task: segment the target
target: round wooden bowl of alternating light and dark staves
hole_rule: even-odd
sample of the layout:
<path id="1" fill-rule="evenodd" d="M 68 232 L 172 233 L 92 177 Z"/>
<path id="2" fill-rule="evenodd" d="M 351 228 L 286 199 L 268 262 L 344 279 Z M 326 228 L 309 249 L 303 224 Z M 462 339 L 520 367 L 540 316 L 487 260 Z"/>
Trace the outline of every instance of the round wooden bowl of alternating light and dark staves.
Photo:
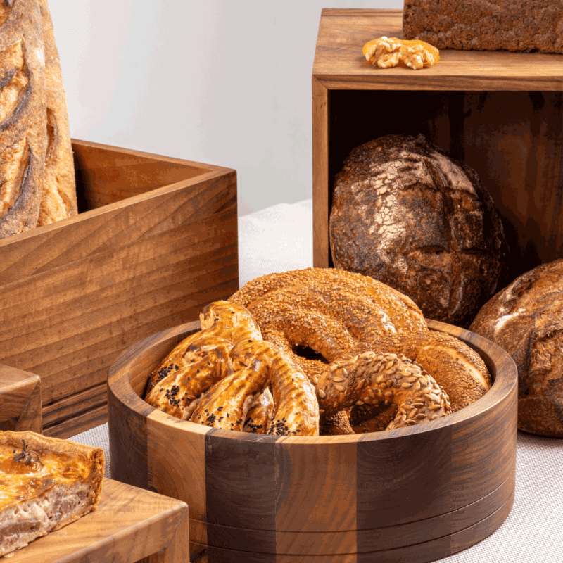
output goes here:
<path id="1" fill-rule="evenodd" d="M 110 368 L 111 476 L 189 505 L 191 556 L 210 563 L 432 561 L 482 540 L 512 507 L 517 371 L 491 341 L 448 324 L 477 350 L 491 391 L 405 429 L 353 436 L 261 436 L 210 429 L 141 399 L 183 324 Z"/>

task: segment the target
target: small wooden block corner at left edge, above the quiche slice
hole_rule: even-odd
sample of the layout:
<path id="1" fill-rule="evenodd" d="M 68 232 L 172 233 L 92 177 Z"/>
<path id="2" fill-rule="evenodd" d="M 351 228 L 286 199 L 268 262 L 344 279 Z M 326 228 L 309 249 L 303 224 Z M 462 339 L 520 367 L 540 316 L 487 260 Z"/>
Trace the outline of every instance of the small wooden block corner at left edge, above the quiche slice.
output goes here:
<path id="1" fill-rule="evenodd" d="M 41 379 L 0 364 L 0 430 L 42 433 Z"/>

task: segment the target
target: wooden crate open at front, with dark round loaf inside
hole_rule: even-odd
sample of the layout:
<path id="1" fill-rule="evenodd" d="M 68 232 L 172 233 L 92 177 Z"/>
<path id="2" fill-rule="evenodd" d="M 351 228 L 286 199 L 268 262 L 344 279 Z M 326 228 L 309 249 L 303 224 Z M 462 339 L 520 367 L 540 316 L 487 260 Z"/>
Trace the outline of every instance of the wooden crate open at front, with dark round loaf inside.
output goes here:
<path id="1" fill-rule="evenodd" d="M 510 280 L 563 256 L 563 57 L 441 51 L 422 70 L 381 69 L 362 56 L 403 37 L 400 10 L 322 11 L 312 71 L 313 260 L 332 265 L 334 177 L 352 148 L 423 133 L 472 166 L 500 210 Z"/>

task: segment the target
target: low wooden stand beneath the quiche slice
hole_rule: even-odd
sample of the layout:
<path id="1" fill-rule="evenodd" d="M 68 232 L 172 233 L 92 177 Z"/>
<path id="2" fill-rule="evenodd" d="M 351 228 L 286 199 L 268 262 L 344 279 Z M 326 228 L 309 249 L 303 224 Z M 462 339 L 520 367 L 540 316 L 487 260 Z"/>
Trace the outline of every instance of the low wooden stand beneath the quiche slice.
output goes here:
<path id="1" fill-rule="evenodd" d="M 34 540 L 10 563 L 189 563 L 188 505 L 104 479 L 96 510 Z"/>

